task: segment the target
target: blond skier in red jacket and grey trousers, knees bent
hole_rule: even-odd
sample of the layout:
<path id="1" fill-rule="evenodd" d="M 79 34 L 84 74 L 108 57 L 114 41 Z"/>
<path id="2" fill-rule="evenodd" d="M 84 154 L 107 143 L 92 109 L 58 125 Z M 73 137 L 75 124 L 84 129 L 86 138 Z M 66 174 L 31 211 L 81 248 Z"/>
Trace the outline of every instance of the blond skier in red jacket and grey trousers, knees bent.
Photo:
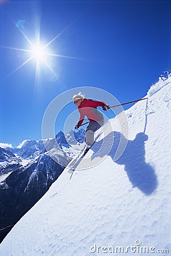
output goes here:
<path id="1" fill-rule="evenodd" d="M 106 105 L 103 101 L 94 101 L 87 98 L 84 98 L 82 93 L 78 93 L 73 96 L 73 102 L 76 104 L 78 111 L 80 112 L 80 119 L 78 124 L 74 127 L 76 130 L 82 125 L 85 116 L 89 119 L 89 125 L 85 131 L 86 137 L 86 152 L 90 149 L 90 147 L 94 143 L 94 133 L 97 131 L 104 123 L 105 120 L 101 112 L 97 110 L 98 106 L 101 106 L 103 110 L 109 110 L 110 106 Z"/>

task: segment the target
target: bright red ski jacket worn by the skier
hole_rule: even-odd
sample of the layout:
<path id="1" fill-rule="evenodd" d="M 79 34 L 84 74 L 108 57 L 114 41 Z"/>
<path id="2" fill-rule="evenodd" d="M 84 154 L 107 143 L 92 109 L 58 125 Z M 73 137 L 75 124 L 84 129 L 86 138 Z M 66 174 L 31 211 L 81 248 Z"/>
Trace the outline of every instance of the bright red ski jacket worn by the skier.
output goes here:
<path id="1" fill-rule="evenodd" d="M 81 126 L 84 121 L 85 116 L 89 119 L 90 122 L 97 121 L 100 125 L 103 125 L 104 118 L 101 112 L 97 110 L 98 106 L 102 108 L 106 105 L 103 101 L 93 101 L 84 98 L 80 106 L 78 106 L 78 111 L 80 112 L 80 119 L 78 125 Z"/>

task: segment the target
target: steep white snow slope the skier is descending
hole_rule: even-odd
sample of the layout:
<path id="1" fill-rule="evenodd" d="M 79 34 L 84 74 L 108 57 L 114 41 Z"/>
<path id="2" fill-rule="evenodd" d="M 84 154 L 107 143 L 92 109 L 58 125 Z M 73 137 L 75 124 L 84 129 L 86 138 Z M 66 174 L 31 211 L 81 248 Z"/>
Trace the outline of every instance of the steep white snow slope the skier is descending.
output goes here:
<path id="1" fill-rule="evenodd" d="M 114 140 L 109 154 L 107 144 L 98 151 L 101 134 L 72 178 L 65 168 L 14 226 L 0 255 L 169 255 L 170 88 L 171 77 L 160 79 L 148 100 L 126 110 L 128 143 L 116 161 L 121 133 L 118 119 L 111 119 L 104 127 Z"/>

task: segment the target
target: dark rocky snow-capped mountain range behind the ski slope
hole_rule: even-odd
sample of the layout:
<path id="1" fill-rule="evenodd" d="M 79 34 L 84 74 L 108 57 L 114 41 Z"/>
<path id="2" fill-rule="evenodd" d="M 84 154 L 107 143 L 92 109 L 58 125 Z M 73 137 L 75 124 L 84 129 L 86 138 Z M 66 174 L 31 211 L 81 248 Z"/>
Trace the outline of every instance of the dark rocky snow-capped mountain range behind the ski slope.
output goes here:
<path id="1" fill-rule="evenodd" d="M 0 148 L 0 242 L 20 217 L 47 192 L 78 152 L 69 144 L 66 147 L 64 133 L 60 132 L 56 138 L 57 143 L 55 138 L 25 140 L 10 151 Z"/>

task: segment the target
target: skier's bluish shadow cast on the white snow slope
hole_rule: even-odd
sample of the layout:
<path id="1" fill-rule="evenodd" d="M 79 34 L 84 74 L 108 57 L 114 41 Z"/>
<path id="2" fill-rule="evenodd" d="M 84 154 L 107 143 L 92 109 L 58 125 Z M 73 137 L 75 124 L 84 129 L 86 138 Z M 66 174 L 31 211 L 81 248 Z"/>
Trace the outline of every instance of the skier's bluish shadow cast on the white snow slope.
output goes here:
<path id="1" fill-rule="evenodd" d="M 111 156 L 112 160 L 114 160 L 116 150 L 119 146 L 120 137 L 121 134 L 116 131 L 110 133 L 106 137 L 107 140 L 112 139 L 114 141 L 108 154 Z M 145 162 L 144 143 L 147 140 L 148 135 L 144 133 L 138 133 L 134 141 L 128 141 L 127 147 L 124 150 L 122 156 L 120 156 L 120 158 L 116 160 L 115 163 L 124 165 L 124 170 L 127 172 L 128 178 L 131 181 L 133 187 L 137 187 L 146 195 L 150 195 L 157 188 L 157 176 L 153 167 Z M 98 148 L 101 147 L 102 143 L 103 140 L 96 143 Z M 104 156 L 103 150 L 94 152 L 91 157 L 94 158 L 96 156 L 102 158 Z"/>

